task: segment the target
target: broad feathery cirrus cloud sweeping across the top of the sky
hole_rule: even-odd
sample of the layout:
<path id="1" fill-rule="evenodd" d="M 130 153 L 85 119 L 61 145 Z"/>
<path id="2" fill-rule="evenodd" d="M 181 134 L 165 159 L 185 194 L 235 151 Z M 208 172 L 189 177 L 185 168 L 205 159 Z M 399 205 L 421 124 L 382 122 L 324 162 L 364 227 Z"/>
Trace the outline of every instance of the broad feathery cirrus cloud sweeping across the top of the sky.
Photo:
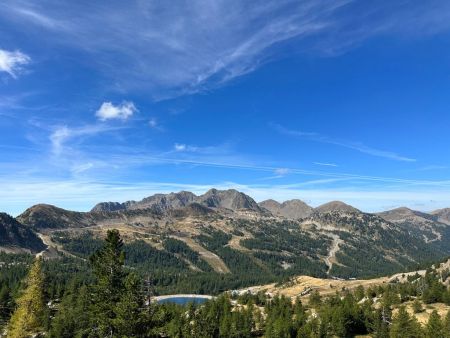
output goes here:
<path id="1" fill-rule="evenodd" d="M 380 34 L 450 27 L 450 5 L 438 0 L 359 6 L 355 0 L 4 0 L 0 17 L 26 36 L 44 31 L 51 46 L 88 56 L 114 88 L 156 99 L 227 83 L 284 55 L 282 46 L 294 40 L 305 43 L 290 52 L 334 54 Z"/>

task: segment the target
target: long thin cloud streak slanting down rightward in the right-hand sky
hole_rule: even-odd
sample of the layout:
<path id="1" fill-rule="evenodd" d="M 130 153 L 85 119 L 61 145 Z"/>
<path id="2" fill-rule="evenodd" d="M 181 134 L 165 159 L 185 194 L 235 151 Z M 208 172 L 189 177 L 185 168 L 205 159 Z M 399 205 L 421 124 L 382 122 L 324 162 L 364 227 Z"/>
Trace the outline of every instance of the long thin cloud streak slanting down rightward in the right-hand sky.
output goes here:
<path id="1" fill-rule="evenodd" d="M 358 151 L 363 154 L 367 154 L 367 155 L 371 155 L 371 156 L 375 156 L 375 157 L 387 158 L 387 159 L 395 160 L 395 161 L 402 161 L 402 162 L 415 162 L 416 161 L 416 159 L 414 159 L 414 158 L 399 155 L 392 151 L 381 150 L 381 149 L 369 147 L 361 142 L 339 140 L 339 139 L 334 139 L 334 138 L 331 138 L 331 137 L 328 137 L 325 135 L 321 135 L 319 133 L 311 133 L 311 132 L 304 132 L 301 130 L 288 129 L 288 128 L 286 128 L 280 124 L 276 124 L 276 123 L 271 123 L 270 126 L 274 130 L 279 132 L 280 134 L 287 135 L 287 136 L 302 138 L 302 139 L 306 139 L 306 140 L 314 141 L 314 142 L 333 144 L 333 145 L 344 147 L 347 149 L 352 149 L 352 150 Z"/>

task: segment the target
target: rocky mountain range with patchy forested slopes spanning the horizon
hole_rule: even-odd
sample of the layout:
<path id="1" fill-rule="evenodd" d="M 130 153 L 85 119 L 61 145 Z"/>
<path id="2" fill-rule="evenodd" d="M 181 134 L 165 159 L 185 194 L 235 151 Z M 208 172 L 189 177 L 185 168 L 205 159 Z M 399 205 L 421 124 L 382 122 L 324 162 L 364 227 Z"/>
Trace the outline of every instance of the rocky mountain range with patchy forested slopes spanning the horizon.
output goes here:
<path id="1" fill-rule="evenodd" d="M 450 255 L 450 209 L 397 208 L 375 214 L 339 201 L 316 208 L 298 199 L 257 203 L 233 189 L 102 202 L 89 212 L 38 204 L 15 219 L 0 217 L 0 249 L 39 252 L 50 247 L 81 257 L 87 253 L 78 250 L 80 241 L 92 243 L 111 228 L 119 229 L 127 242 L 143 241 L 174 255 L 187 269 L 216 273 L 235 272 L 239 260 L 249 270 L 272 275 L 364 277 Z M 187 246 L 198 260 L 171 252 L 168 238 Z"/>

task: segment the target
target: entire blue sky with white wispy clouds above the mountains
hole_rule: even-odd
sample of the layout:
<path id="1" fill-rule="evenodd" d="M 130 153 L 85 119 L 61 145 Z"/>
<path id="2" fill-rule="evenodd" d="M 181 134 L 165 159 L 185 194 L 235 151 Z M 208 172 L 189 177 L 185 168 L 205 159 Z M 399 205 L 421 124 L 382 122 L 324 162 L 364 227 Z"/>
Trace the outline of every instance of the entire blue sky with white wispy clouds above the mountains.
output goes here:
<path id="1" fill-rule="evenodd" d="M 0 3 L 0 206 L 450 207 L 448 1 Z"/>

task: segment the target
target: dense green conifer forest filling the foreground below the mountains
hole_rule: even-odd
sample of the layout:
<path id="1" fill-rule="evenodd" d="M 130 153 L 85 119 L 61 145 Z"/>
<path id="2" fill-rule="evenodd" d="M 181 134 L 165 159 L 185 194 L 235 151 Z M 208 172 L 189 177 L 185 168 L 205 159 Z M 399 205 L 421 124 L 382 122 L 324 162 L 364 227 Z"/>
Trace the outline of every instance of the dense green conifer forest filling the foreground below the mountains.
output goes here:
<path id="1" fill-rule="evenodd" d="M 168 242 L 176 250 L 176 242 Z M 189 252 L 188 252 L 189 253 Z M 7 337 L 450 337 L 450 312 L 415 313 L 450 305 L 448 270 L 429 269 L 403 283 L 290 299 L 225 292 L 202 304 L 153 301 L 151 274 L 125 265 L 124 243 L 110 230 L 78 266 L 29 255 L 2 254 L 0 316 Z M 405 304 L 412 302 L 411 311 Z"/>

